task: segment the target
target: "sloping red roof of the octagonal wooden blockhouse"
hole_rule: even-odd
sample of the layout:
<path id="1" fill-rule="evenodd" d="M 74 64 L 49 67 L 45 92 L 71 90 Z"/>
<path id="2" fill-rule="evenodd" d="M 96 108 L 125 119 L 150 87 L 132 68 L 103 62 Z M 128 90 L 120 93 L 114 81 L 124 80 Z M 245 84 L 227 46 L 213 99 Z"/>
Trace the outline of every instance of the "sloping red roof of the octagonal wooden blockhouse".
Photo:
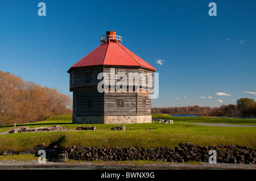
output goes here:
<path id="1" fill-rule="evenodd" d="M 138 66 L 153 71 L 156 70 L 122 44 L 113 41 L 101 44 L 71 68 L 95 65 Z"/>

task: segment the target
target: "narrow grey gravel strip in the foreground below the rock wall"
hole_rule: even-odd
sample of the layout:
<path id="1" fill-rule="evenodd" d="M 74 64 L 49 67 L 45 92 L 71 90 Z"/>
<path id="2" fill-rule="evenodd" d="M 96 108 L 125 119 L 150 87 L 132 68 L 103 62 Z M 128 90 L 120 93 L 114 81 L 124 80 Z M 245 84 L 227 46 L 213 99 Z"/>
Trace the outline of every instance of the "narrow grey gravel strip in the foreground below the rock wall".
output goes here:
<path id="1" fill-rule="evenodd" d="M 216 163 L 210 164 L 208 162 L 203 163 L 146 163 L 144 165 L 127 164 L 122 162 L 79 162 L 79 163 L 55 163 L 46 162 L 46 164 L 39 164 L 38 161 L 0 161 L 0 170 L 2 169 L 15 169 L 15 170 L 26 170 L 26 169 L 97 169 L 97 170 L 119 170 L 119 169 L 141 169 L 141 170 L 187 170 L 187 169 L 246 169 L 246 170 L 256 170 L 256 165 L 247 164 L 234 164 L 234 163 Z"/>

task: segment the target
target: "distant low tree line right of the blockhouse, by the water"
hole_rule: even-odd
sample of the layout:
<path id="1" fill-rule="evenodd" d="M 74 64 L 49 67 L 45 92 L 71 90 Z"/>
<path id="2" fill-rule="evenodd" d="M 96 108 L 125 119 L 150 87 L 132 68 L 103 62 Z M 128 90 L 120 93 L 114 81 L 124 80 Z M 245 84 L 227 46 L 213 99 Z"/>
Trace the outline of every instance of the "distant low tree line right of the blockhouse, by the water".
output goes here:
<path id="1" fill-rule="evenodd" d="M 152 113 L 167 114 L 198 114 L 201 116 L 223 116 L 223 117 L 256 117 L 256 102 L 250 98 L 240 98 L 237 104 L 222 105 L 220 107 L 162 107 L 151 108 Z"/>

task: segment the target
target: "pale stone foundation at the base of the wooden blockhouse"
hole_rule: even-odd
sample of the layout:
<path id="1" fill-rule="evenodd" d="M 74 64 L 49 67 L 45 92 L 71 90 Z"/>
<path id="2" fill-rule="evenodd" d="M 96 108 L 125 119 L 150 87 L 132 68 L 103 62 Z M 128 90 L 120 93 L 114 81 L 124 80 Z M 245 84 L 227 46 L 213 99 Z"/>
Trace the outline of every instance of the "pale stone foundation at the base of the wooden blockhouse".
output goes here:
<path id="1" fill-rule="evenodd" d="M 152 116 L 73 116 L 73 124 L 151 123 Z"/>

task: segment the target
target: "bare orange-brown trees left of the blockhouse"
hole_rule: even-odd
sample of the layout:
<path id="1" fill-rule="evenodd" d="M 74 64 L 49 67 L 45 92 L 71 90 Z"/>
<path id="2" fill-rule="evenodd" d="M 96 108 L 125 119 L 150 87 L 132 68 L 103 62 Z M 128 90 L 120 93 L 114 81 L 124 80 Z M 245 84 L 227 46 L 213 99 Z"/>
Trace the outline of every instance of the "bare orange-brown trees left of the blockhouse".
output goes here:
<path id="1" fill-rule="evenodd" d="M 31 123 L 72 113 L 72 98 L 0 71 L 0 125 Z"/>

